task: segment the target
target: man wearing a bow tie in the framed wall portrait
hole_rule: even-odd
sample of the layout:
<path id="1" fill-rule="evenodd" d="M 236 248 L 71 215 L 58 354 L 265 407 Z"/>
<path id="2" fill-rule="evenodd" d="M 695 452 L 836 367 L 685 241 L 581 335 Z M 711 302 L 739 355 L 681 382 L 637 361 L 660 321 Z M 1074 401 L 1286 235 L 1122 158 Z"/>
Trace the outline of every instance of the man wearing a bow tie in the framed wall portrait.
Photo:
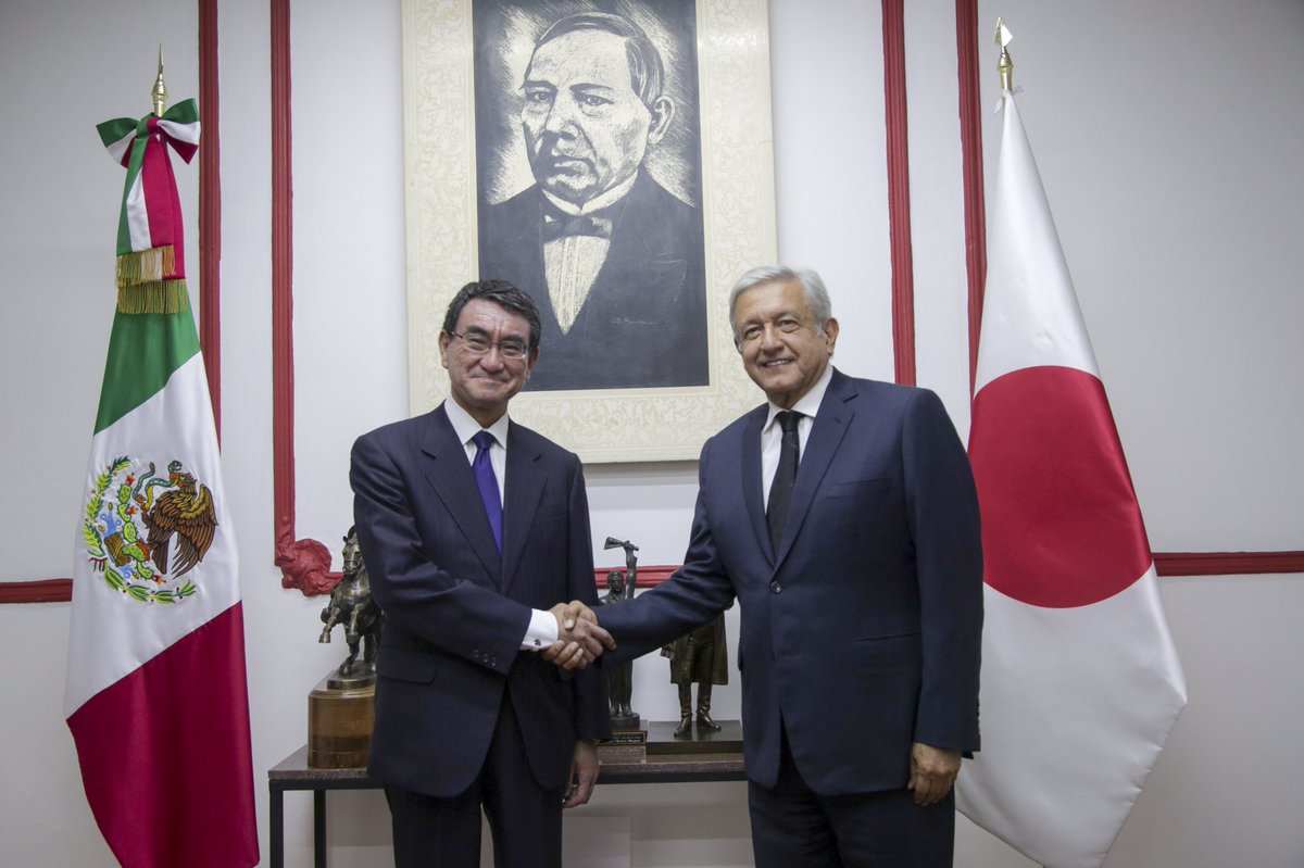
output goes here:
<path id="1" fill-rule="evenodd" d="M 480 271 L 539 304 L 532 390 L 705 386 L 702 212 L 645 168 L 675 117 L 661 53 L 621 16 L 553 23 L 522 83 L 535 185 L 481 209 Z"/>

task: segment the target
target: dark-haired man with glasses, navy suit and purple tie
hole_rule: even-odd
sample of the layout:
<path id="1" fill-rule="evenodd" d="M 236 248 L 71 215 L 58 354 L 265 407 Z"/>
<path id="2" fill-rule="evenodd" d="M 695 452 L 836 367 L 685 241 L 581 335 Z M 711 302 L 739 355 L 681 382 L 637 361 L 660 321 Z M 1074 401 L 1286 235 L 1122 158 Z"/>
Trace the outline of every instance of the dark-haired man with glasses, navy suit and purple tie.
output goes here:
<path id="1" fill-rule="evenodd" d="M 353 516 L 387 618 L 368 770 L 396 865 L 477 867 L 482 805 L 496 864 L 559 867 L 563 803 L 588 800 L 593 739 L 609 736 L 599 673 L 532 653 L 571 633 L 554 601 L 597 602 L 579 459 L 507 418 L 539 332 L 529 296 L 467 284 L 439 335 L 451 400 L 353 444 Z"/>

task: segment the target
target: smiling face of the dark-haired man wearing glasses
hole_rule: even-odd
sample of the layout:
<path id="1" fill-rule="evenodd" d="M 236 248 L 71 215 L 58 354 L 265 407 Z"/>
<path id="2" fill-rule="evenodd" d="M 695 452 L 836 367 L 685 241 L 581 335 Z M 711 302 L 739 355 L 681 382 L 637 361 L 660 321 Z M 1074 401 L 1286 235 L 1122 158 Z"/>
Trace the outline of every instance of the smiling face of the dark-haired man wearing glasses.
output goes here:
<path id="1" fill-rule="evenodd" d="M 529 379 L 529 370 L 539 361 L 539 349 L 526 358 L 505 358 L 499 341 L 516 340 L 529 345 L 529 321 L 493 301 L 472 298 L 462 309 L 455 327 L 458 335 L 477 335 L 490 341 L 489 352 L 477 356 L 467 349 L 462 338 L 439 332 L 439 361 L 449 370 L 452 400 L 482 427 L 493 425 L 507 412 Z"/>

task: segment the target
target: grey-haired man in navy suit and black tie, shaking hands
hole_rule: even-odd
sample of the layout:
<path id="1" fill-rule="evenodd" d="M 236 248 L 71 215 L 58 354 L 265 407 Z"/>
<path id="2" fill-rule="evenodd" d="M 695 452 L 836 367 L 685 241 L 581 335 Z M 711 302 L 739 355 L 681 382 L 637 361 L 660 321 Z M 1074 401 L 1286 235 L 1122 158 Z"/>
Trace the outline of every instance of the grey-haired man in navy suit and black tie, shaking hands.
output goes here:
<path id="1" fill-rule="evenodd" d="M 833 370 L 815 272 L 748 272 L 730 321 L 769 400 L 702 450 L 683 567 L 600 623 L 638 656 L 739 601 L 758 865 L 949 865 L 952 785 L 978 748 L 964 447 L 932 392 Z"/>

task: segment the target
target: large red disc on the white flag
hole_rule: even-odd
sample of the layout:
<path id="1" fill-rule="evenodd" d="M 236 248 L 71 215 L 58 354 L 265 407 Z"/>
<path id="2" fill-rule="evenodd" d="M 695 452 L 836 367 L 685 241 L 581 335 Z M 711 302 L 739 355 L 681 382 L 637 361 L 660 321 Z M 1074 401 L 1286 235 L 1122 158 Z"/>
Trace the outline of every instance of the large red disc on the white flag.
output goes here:
<path id="1" fill-rule="evenodd" d="M 1072 368 L 1005 374 L 974 398 L 969 460 L 985 579 L 1033 606 L 1107 600 L 1150 546 L 1101 381 Z"/>

